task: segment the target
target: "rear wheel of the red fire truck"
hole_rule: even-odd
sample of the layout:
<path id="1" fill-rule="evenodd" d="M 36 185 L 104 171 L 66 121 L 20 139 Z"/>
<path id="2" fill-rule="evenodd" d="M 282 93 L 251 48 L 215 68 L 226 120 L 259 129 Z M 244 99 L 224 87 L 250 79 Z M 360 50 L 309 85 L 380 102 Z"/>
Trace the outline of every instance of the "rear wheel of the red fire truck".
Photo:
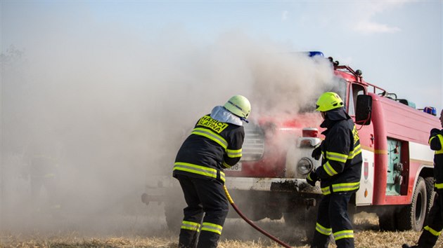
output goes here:
<path id="1" fill-rule="evenodd" d="M 413 191 L 412 202 L 400 209 L 397 215 L 399 230 L 416 230 L 423 228 L 426 215 L 426 183 L 423 177 L 418 177 L 416 189 Z"/>

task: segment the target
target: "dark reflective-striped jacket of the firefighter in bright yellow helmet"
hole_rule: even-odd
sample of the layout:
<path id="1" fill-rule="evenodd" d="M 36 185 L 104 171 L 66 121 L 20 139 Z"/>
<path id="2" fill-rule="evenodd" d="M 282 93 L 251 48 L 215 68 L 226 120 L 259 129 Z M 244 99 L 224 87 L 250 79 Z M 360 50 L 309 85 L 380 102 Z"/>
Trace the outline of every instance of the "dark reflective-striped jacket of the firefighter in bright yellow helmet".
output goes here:
<path id="1" fill-rule="evenodd" d="M 321 123 L 327 128 L 322 134 L 323 159 L 316 175 L 321 179 L 323 195 L 340 192 L 354 192 L 359 189 L 361 177 L 360 139 L 352 118 L 343 108 L 326 113 Z"/>

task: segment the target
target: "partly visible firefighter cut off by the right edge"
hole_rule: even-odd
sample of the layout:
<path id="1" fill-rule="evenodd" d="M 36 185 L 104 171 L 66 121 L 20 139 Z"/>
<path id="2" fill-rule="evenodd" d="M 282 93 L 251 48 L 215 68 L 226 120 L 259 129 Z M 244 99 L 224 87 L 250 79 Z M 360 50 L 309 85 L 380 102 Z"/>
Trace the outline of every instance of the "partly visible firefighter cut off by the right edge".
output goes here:
<path id="1" fill-rule="evenodd" d="M 443 128 L 443 110 L 440 113 L 440 123 Z M 439 235 L 443 230 L 443 130 L 432 128 L 429 137 L 430 149 L 435 151 L 434 155 L 434 179 L 436 191 L 434 204 L 429 211 L 428 226 L 423 228 L 418 239 L 418 244 L 411 247 L 430 248 L 434 247 Z M 409 248 L 403 244 L 403 248 Z"/>

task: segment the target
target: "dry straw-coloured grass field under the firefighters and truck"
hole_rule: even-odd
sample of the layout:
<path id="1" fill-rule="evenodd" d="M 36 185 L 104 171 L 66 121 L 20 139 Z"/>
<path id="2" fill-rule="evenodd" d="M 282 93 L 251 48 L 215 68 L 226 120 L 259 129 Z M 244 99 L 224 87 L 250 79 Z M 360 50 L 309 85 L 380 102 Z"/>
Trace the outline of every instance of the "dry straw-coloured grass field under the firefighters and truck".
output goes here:
<path id="1" fill-rule="evenodd" d="M 126 223 L 109 220 L 108 223 L 82 226 L 64 226 L 58 230 L 51 228 L 52 223 L 43 226 L 28 225 L 24 230 L 6 230 L 0 233 L 0 247 L 177 247 L 177 235 L 167 230 L 162 216 L 148 219 L 125 217 Z M 116 224 L 118 223 L 118 224 Z M 149 223 L 149 224 L 148 224 Z M 285 228 L 282 221 L 258 221 L 257 224 L 276 235 L 292 247 L 309 247 L 304 231 Z M 98 231 L 99 226 L 102 228 Z M 420 233 L 382 232 L 378 230 L 378 218 L 372 214 L 358 214 L 354 219 L 356 247 L 401 247 L 407 242 L 413 244 Z M 276 242 L 258 233 L 240 219 L 228 219 L 219 243 L 220 248 L 261 248 L 280 247 Z M 335 247 L 335 244 L 330 244 Z M 440 239 L 436 247 L 443 247 Z"/>

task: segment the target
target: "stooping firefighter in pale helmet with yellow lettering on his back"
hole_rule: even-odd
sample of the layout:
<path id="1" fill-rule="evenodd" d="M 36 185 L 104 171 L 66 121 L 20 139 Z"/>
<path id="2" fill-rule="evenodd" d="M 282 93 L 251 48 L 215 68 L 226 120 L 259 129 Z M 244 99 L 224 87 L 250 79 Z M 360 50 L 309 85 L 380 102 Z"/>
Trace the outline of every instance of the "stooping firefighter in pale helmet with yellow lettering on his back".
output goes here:
<path id="1" fill-rule="evenodd" d="M 242 156 L 251 105 L 235 95 L 200 118 L 176 155 L 173 176 L 179 180 L 187 207 L 179 247 L 217 247 L 229 203 L 224 193 L 224 168 Z M 204 216 L 203 216 L 204 215 Z M 202 222 L 203 220 L 203 222 Z"/>

